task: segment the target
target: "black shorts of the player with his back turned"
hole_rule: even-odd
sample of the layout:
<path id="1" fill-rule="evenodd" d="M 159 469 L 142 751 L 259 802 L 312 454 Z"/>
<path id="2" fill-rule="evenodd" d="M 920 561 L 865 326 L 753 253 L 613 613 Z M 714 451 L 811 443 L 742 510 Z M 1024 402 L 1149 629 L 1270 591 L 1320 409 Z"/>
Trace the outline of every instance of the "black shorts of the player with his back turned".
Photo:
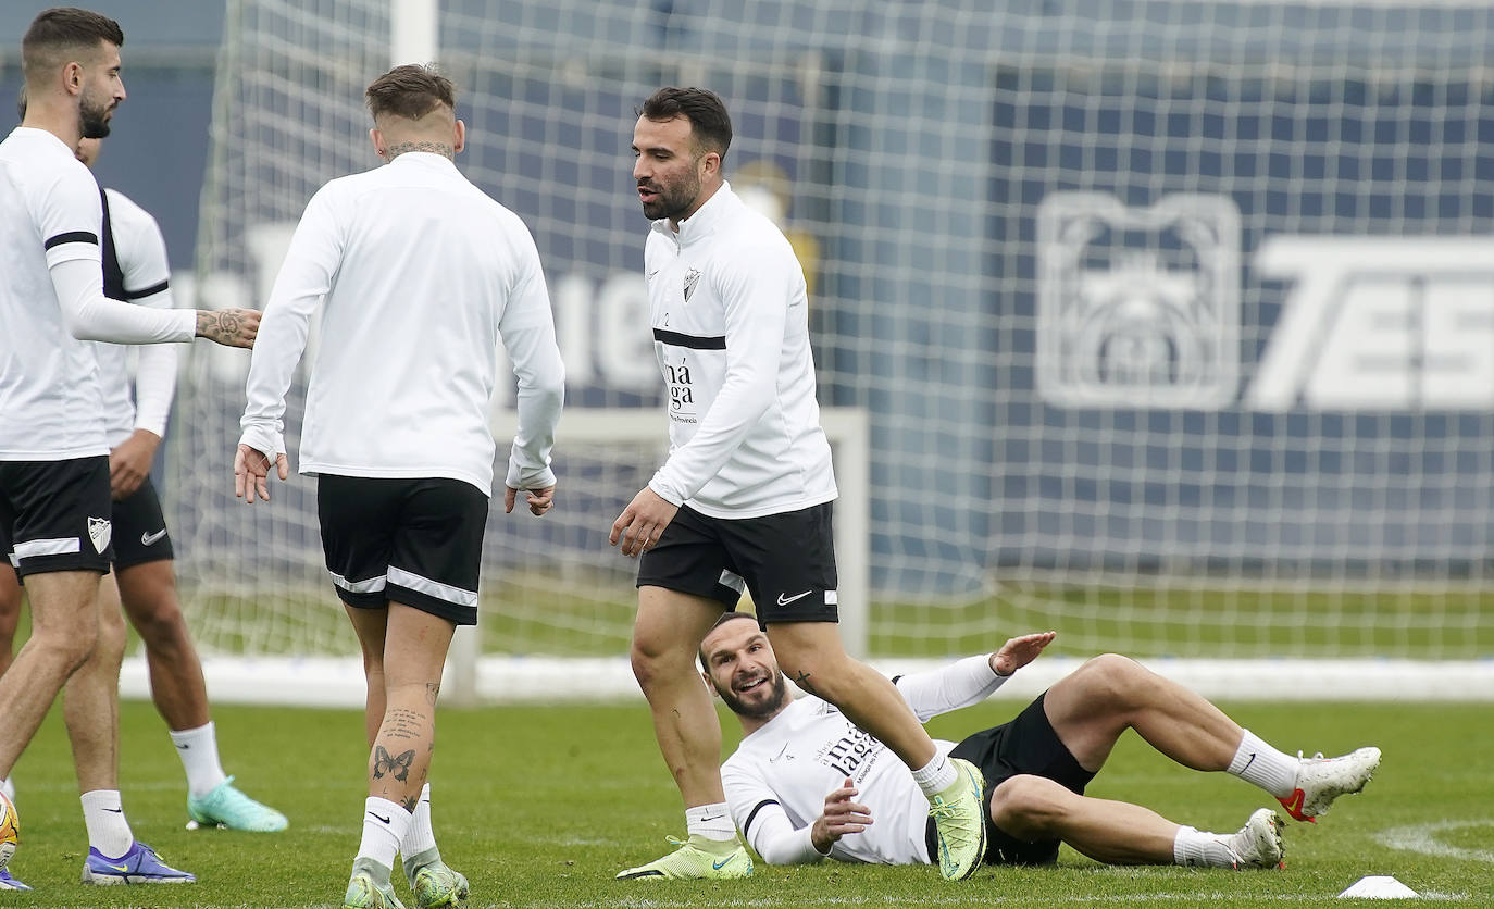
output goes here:
<path id="1" fill-rule="evenodd" d="M 402 603 L 477 625 L 477 582 L 489 499 L 463 480 L 317 478 L 327 571 L 342 603 Z"/>

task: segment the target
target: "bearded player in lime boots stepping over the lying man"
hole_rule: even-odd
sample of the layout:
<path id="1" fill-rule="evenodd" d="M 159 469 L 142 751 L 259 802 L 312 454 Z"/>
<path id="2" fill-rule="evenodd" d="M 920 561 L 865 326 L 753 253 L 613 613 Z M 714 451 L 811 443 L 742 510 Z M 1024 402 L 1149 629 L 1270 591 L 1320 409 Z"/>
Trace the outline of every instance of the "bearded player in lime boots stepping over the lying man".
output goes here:
<path id="1" fill-rule="evenodd" d="M 935 821 L 940 872 L 968 878 L 986 851 L 979 771 L 934 748 L 892 683 L 846 653 L 835 626 L 837 490 L 804 272 L 783 232 L 722 178 L 732 124 L 716 94 L 660 88 L 639 114 L 633 181 L 653 218 L 644 278 L 669 457 L 613 523 L 611 543 L 642 556 L 633 674 L 690 839 L 619 878 L 751 873 L 722 794 L 716 710 L 695 671 L 701 638 L 744 586 L 793 680 L 908 765 Z"/>

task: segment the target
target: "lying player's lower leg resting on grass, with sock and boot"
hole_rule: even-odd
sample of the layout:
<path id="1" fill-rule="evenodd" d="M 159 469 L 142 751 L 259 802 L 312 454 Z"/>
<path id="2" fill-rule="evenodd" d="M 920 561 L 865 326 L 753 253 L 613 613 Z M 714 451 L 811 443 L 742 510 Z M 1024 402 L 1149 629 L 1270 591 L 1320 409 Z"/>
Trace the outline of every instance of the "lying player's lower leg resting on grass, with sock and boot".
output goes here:
<path id="1" fill-rule="evenodd" d="M 1109 864 L 1274 869 L 1285 854 L 1280 825 L 1268 809 L 1252 815 L 1239 833 L 1204 833 L 1138 804 L 1077 795 L 1040 776 L 1014 776 L 996 786 L 991 819 L 1020 840 L 1059 839 Z"/>

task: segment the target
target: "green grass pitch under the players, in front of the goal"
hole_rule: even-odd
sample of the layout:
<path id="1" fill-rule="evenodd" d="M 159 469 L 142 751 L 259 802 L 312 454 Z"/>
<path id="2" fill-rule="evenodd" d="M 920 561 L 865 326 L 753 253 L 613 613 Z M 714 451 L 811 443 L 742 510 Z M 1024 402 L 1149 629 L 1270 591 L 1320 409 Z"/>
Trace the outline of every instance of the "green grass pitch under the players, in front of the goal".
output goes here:
<path id="1" fill-rule="evenodd" d="M 941 716 L 964 734 L 1007 719 L 995 698 Z M 675 794 L 639 701 L 607 707 L 444 710 L 435 821 L 444 857 L 472 879 L 475 906 L 1343 906 L 1364 875 L 1466 906 L 1494 905 L 1494 707 L 1449 704 L 1240 704 L 1231 713 L 1283 748 L 1328 752 L 1376 743 L 1380 773 L 1315 825 L 1291 824 L 1285 872 L 1109 869 L 1064 849 L 1056 869 L 986 869 L 946 884 L 928 867 L 820 864 L 735 884 L 614 882 L 683 833 Z M 24 840 L 13 870 L 37 887 L 0 906 L 336 906 L 357 851 L 363 804 L 362 716 L 351 710 L 218 707 L 226 767 L 291 818 L 284 834 L 182 828 L 181 767 L 149 704 L 121 710 L 121 782 L 136 834 L 194 887 L 78 884 L 87 839 L 54 712 L 16 765 Z M 735 724 L 728 746 L 735 742 Z M 1183 770 L 1128 734 L 1092 795 L 1153 807 L 1200 828 L 1234 830 L 1267 797 L 1225 774 Z M 1427 855 L 1389 848 L 1397 827 L 1454 824 Z M 403 893 L 403 885 L 400 885 Z"/>

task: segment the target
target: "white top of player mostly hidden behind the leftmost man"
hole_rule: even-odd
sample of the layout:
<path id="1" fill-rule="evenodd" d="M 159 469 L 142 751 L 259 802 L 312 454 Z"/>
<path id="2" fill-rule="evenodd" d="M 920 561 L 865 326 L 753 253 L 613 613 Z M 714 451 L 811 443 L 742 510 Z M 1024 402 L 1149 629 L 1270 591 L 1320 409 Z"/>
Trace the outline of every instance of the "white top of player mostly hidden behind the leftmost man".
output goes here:
<path id="1" fill-rule="evenodd" d="M 105 190 L 103 283 L 111 299 L 172 309 L 170 265 L 166 238 L 148 211 L 118 190 Z M 111 263 L 111 247 L 114 262 Z M 118 281 L 118 287 L 111 284 Z M 134 396 L 130 396 L 128 351 L 123 344 L 96 344 L 99 387 L 103 395 L 105 441 L 114 449 L 136 429 L 166 435 L 166 420 L 176 396 L 176 345 L 139 347 Z"/>

